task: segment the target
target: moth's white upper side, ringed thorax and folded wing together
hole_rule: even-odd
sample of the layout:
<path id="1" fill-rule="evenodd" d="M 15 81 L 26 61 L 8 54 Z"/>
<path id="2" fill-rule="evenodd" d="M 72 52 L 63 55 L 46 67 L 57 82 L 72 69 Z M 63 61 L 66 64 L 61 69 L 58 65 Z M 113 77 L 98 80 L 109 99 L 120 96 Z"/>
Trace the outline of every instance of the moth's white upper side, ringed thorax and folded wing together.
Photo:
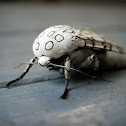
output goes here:
<path id="1" fill-rule="evenodd" d="M 37 57 L 58 58 L 78 47 L 126 53 L 125 49 L 112 43 L 103 35 L 67 25 L 57 25 L 45 29 L 35 39 L 33 52 Z"/>

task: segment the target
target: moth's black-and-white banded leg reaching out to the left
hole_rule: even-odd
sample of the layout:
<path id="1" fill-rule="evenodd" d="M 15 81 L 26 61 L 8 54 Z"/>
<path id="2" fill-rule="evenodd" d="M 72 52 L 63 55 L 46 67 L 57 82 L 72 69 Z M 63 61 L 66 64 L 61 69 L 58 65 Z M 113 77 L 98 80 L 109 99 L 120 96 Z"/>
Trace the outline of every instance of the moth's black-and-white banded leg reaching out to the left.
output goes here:
<path id="1" fill-rule="evenodd" d="M 30 60 L 30 63 L 35 62 L 36 58 L 37 58 L 37 57 L 32 58 L 32 59 Z M 29 69 L 32 67 L 32 65 L 33 65 L 33 64 L 28 64 L 28 65 L 26 66 L 24 72 L 21 74 L 21 76 L 18 77 L 17 79 L 15 79 L 15 80 L 10 81 L 10 82 L 6 85 L 6 88 L 9 88 L 11 84 L 13 84 L 13 83 L 15 83 L 15 82 L 21 80 L 21 79 L 26 75 L 26 73 L 28 73 L 28 71 L 29 71 Z"/>

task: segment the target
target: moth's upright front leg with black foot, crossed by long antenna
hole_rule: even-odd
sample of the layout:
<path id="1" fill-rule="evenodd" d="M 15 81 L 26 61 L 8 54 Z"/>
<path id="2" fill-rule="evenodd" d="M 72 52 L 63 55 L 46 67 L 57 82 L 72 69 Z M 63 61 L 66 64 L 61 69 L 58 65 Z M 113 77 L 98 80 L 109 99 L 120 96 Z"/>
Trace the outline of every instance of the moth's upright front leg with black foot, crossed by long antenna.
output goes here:
<path id="1" fill-rule="evenodd" d="M 70 56 L 67 56 L 64 60 L 64 66 L 70 67 Z M 64 69 L 64 75 L 65 75 L 65 90 L 63 95 L 61 96 L 62 99 L 66 99 L 68 95 L 68 85 L 69 85 L 69 78 L 70 78 L 70 71 L 69 69 Z"/>

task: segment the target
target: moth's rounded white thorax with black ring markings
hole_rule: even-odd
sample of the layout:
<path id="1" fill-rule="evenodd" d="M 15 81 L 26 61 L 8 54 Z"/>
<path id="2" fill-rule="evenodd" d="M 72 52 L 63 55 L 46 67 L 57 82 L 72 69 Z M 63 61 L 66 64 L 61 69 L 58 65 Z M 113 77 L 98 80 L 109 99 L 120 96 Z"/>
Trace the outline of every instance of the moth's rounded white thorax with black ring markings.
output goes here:
<path id="1" fill-rule="evenodd" d="M 77 46 L 72 41 L 73 30 L 70 26 L 53 26 L 45 29 L 35 39 L 33 52 L 37 57 L 42 55 L 58 58 Z"/>

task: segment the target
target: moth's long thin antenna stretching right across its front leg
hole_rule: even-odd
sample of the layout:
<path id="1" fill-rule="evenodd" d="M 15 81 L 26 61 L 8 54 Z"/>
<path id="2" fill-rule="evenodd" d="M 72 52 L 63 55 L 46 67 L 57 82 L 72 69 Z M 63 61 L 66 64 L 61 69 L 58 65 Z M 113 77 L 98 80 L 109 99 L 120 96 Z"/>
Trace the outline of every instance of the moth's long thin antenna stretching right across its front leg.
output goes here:
<path id="1" fill-rule="evenodd" d="M 98 78 L 98 77 L 96 77 L 96 76 L 89 75 L 89 74 L 84 73 L 84 72 L 82 72 L 82 71 L 80 71 L 80 70 L 77 70 L 77 69 L 75 69 L 75 68 L 66 67 L 66 66 L 62 66 L 62 65 L 57 65 L 57 64 L 54 64 L 54 63 L 50 63 L 50 62 L 48 62 L 48 64 L 49 64 L 49 65 L 52 65 L 52 66 L 60 67 L 60 68 L 69 69 L 69 70 L 72 70 L 72 71 L 77 71 L 78 73 L 81 73 L 81 74 L 83 74 L 84 76 L 87 76 L 87 77 L 92 78 L 92 79 L 98 79 L 98 80 L 103 80 L 103 81 L 107 81 L 107 82 L 112 82 L 112 81 L 108 81 L 108 80 L 105 80 L 105 79 L 102 79 L 102 78 Z"/>

